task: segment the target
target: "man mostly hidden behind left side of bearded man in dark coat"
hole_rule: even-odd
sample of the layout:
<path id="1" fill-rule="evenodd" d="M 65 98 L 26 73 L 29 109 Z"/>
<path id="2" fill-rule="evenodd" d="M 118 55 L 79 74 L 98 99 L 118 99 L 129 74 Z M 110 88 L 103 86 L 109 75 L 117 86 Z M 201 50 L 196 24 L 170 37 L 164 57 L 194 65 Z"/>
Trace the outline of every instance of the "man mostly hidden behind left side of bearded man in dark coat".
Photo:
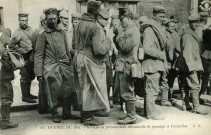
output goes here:
<path id="1" fill-rule="evenodd" d="M 46 25 L 45 14 L 42 14 L 40 16 L 40 26 L 38 29 L 36 29 L 34 31 L 33 36 L 32 36 L 34 49 L 35 49 L 35 45 L 37 42 L 37 37 L 38 37 L 39 33 L 42 33 L 44 31 L 45 25 Z M 39 113 L 40 114 L 49 113 L 44 80 L 42 82 L 39 82 L 39 94 L 38 95 L 39 95 L 39 109 L 38 109 Z"/>

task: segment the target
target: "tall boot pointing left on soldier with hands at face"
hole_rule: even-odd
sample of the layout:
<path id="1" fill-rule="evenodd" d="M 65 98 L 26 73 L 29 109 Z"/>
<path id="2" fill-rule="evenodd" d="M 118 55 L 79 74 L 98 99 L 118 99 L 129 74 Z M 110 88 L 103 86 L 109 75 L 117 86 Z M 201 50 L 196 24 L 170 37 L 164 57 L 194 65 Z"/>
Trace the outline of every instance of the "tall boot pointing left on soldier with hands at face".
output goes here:
<path id="1" fill-rule="evenodd" d="M 126 110 L 127 110 L 127 117 L 125 117 L 122 120 L 118 120 L 118 123 L 122 125 L 134 124 L 136 122 L 135 102 L 134 101 L 126 102 Z"/>

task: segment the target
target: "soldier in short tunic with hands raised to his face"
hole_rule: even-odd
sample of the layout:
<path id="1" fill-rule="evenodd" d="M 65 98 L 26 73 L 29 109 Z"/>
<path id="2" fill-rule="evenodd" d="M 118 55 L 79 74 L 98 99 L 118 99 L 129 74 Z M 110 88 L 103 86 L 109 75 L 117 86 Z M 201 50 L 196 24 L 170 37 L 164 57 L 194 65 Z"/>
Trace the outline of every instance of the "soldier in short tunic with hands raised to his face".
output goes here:
<path id="1" fill-rule="evenodd" d="M 132 64 L 139 70 L 140 63 L 138 61 L 137 52 L 140 44 L 140 32 L 138 27 L 132 20 L 132 12 L 127 8 L 119 9 L 119 18 L 121 27 L 117 28 L 118 35 L 114 39 L 118 57 L 116 59 L 115 82 L 120 87 L 120 96 L 126 105 L 127 115 L 120 117 L 119 124 L 133 124 L 136 122 L 135 116 L 135 93 L 134 78 L 132 77 Z"/>

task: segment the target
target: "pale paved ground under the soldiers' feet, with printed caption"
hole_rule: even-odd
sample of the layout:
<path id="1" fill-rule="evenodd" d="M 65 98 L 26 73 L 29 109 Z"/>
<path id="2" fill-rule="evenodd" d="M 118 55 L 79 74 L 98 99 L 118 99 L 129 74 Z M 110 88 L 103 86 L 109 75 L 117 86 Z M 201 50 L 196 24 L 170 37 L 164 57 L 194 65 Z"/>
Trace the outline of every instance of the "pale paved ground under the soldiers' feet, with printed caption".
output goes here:
<path id="1" fill-rule="evenodd" d="M 18 73 L 16 73 L 18 75 Z M 14 86 L 14 106 L 31 106 L 21 101 L 19 79 L 13 82 Z M 32 93 L 37 95 L 37 82 L 33 82 Z M 211 96 L 203 96 L 209 102 Z M 147 120 L 143 117 L 143 110 L 137 112 L 137 123 L 134 125 L 121 126 L 117 124 L 118 117 L 124 112 L 120 110 L 120 106 L 116 105 L 111 109 L 110 117 L 97 119 L 104 120 L 105 125 L 100 127 L 84 127 L 78 120 L 62 121 L 55 124 L 51 121 L 51 115 L 39 115 L 36 109 L 28 111 L 19 111 L 11 113 L 11 120 L 19 123 L 19 127 L 10 130 L 0 130 L 0 135 L 104 135 L 104 134 L 120 134 L 120 135 L 211 135 L 211 104 L 207 103 L 202 109 L 209 112 L 208 115 L 202 116 L 181 110 L 181 100 L 177 99 L 174 107 L 161 107 L 159 110 L 166 117 L 165 120 Z M 143 99 L 138 99 L 137 105 L 143 107 Z M 59 109 L 61 115 L 61 108 Z M 74 111 L 73 114 L 79 115 Z"/>

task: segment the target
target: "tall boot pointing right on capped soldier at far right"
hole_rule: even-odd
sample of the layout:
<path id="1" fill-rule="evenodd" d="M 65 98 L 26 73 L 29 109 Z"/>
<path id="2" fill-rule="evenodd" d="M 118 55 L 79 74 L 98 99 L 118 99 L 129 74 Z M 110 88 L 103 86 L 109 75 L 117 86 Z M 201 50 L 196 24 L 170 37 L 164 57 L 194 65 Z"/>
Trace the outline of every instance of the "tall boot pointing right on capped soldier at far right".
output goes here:
<path id="1" fill-rule="evenodd" d="M 192 93 L 192 101 L 193 101 L 193 113 L 202 114 L 202 115 L 208 114 L 208 112 L 205 112 L 200 109 L 199 93 L 197 91 L 194 91 Z"/>

